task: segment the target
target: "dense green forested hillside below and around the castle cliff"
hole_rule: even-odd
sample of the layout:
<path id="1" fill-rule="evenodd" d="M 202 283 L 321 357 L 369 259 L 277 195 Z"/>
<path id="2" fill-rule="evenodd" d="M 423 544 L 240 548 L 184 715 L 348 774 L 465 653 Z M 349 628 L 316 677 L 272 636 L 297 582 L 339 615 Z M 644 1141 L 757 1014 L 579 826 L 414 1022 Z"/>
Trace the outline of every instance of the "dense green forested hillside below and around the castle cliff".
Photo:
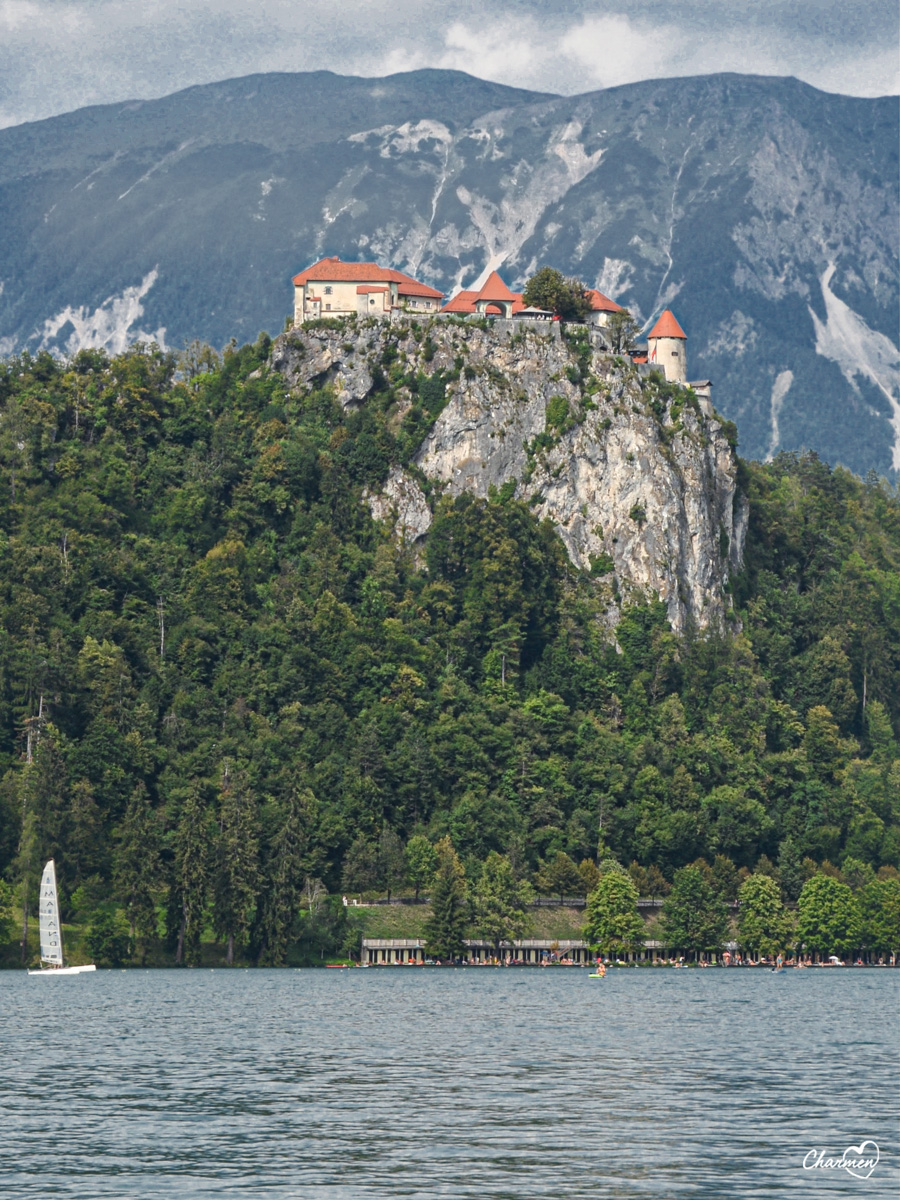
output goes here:
<path id="1" fill-rule="evenodd" d="M 492 851 L 521 878 L 560 852 L 666 880 L 702 857 L 733 892 L 762 860 L 787 900 L 817 864 L 900 865 L 889 485 L 744 463 L 743 631 L 679 638 L 649 601 L 613 635 L 503 491 L 437 499 L 419 557 L 392 541 L 362 502 L 415 449 L 386 382 L 342 412 L 269 350 L 0 367 L 17 896 L 53 856 L 68 914 L 278 962 L 304 889 L 396 890 L 416 835 L 470 877 Z"/>

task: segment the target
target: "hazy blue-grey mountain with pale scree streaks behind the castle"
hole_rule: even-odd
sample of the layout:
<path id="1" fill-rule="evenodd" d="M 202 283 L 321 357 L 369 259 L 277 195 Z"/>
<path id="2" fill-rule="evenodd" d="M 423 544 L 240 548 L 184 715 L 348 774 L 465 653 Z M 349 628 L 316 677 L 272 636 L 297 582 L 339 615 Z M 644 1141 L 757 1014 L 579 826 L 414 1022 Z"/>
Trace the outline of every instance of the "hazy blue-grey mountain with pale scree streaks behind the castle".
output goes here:
<path id="1" fill-rule="evenodd" d="M 742 449 L 900 468 L 898 104 L 710 76 L 574 97 L 274 74 L 0 131 L 0 348 L 276 334 L 290 275 L 551 263 L 674 306 Z"/>

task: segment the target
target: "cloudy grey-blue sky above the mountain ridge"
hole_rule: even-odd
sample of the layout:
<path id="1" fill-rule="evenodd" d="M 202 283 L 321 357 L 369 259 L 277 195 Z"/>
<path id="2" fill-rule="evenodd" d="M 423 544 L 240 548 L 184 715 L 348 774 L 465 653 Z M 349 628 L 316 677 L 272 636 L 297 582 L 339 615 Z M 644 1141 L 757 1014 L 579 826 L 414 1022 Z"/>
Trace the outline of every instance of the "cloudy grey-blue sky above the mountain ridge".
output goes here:
<path id="1" fill-rule="evenodd" d="M 900 91 L 898 0 L 0 0 L 0 127 L 257 71 L 452 67 L 575 94 L 793 74 Z"/>

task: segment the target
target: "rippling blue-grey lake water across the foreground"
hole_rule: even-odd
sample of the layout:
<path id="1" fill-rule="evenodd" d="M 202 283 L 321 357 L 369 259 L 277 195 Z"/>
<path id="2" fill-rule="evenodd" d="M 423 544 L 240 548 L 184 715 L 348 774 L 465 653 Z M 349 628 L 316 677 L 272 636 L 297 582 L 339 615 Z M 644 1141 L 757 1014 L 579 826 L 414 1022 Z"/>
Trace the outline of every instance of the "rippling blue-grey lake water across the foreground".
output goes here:
<path id="1" fill-rule="evenodd" d="M 0 1193 L 894 1200 L 899 992 L 852 968 L 0 972 Z M 866 1139 L 865 1181 L 803 1169 Z"/>

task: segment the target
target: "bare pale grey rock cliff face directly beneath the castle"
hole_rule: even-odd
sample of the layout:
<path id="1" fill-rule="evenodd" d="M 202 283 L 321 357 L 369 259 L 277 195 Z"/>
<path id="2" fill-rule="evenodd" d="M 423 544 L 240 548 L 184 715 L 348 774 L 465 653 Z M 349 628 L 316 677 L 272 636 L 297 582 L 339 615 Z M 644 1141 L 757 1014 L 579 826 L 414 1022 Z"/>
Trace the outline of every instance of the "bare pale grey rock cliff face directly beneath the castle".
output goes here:
<path id="1" fill-rule="evenodd" d="M 708 402 L 641 378 L 584 331 L 577 340 L 521 322 L 350 322 L 294 331 L 272 352 L 293 388 L 329 384 L 344 407 L 366 403 L 385 362 L 397 428 L 421 410 L 409 380 L 419 392 L 431 382 L 439 412 L 409 466 L 433 481 L 433 494 L 503 491 L 529 503 L 557 527 L 572 563 L 598 578 L 611 616 L 623 598 L 655 593 L 676 629 L 722 619 L 745 506 L 734 451 Z M 408 541 L 426 535 L 431 509 L 414 470 L 392 468 L 368 503 Z"/>

